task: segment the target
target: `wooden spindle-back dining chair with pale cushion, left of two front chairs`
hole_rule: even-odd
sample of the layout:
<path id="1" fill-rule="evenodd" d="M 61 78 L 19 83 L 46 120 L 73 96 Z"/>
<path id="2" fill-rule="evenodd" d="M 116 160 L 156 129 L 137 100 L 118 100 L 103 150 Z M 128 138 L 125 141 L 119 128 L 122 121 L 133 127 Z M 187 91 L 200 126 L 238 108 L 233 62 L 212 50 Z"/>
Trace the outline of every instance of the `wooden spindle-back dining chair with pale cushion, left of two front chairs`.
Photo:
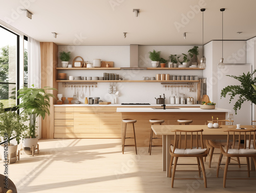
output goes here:
<path id="1" fill-rule="evenodd" d="M 207 187 L 206 175 L 203 157 L 207 156 L 207 149 L 204 148 L 203 144 L 203 130 L 175 130 L 174 145 L 170 145 L 170 167 L 169 167 L 169 177 L 172 175 L 172 188 L 174 187 L 174 179 L 176 171 L 196 171 L 196 170 L 176 170 L 177 165 L 198 165 L 199 177 L 201 178 L 201 171 L 203 173 L 204 187 Z M 190 138 L 189 138 L 190 135 Z M 190 141 L 188 141 L 190 139 Z M 197 158 L 197 164 L 177 164 L 179 157 L 195 157 Z M 175 160 L 174 160 L 175 159 Z M 174 164 L 173 164 L 174 161 Z M 201 162 L 201 165 L 200 165 Z M 178 179 L 191 179 L 195 178 L 178 178 Z M 202 179 L 202 178 L 201 178 Z"/>

